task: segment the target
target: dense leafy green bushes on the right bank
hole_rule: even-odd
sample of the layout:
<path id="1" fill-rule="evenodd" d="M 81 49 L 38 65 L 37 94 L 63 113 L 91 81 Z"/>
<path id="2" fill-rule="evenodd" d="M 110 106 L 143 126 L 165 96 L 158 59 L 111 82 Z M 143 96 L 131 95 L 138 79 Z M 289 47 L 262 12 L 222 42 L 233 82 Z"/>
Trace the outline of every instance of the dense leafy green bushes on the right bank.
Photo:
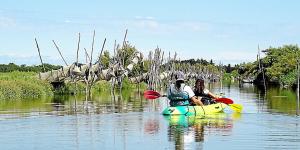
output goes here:
<path id="1" fill-rule="evenodd" d="M 297 63 L 300 49 L 298 45 L 269 47 L 261 51 L 263 58 L 257 56 L 254 62 L 242 63 L 231 71 L 237 72 L 237 78 L 252 78 L 254 83 L 262 83 L 262 76 L 269 84 L 295 86 L 297 84 Z"/>

